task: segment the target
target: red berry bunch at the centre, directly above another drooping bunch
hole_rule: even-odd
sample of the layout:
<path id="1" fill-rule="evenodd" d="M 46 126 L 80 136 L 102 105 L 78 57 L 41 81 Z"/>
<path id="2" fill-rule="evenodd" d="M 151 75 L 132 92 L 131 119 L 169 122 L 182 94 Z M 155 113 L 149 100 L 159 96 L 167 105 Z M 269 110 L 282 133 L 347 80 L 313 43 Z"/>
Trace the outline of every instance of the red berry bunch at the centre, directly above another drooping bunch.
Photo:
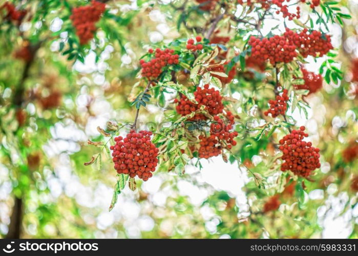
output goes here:
<path id="1" fill-rule="evenodd" d="M 224 105 L 221 101 L 220 92 L 216 91 L 214 88 L 209 89 L 209 84 L 205 84 L 204 89 L 197 87 L 194 96 L 198 104 L 190 101 L 185 95 L 182 95 L 180 100 L 174 99 L 174 102 L 178 103 L 176 106 L 178 114 L 182 116 L 188 115 L 199 110 L 201 105 L 205 105 L 205 109 L 210 115 L 218 115 L 222 113 Z M 207 118 L 203 114 L 196 114 L 191 120 L 198 119 L 206 120 Z"/>

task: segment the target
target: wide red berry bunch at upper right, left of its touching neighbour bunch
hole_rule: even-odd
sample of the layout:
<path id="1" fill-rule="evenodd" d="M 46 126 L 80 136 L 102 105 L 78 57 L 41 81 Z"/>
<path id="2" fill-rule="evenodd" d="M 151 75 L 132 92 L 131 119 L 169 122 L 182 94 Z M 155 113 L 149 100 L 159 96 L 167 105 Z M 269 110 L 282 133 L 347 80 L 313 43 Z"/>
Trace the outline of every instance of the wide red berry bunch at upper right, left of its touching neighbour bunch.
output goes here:
<path id="1" fill-rule="evenodd" d="M 275 35 L 270 38 L 257 38 L 251 36 L 248 44 L 251 56 L 259 62 L 270 61 L 271 65 L 279 62 L 288 63 L 297 56 L 296 46 L 286 36 Z"/>

